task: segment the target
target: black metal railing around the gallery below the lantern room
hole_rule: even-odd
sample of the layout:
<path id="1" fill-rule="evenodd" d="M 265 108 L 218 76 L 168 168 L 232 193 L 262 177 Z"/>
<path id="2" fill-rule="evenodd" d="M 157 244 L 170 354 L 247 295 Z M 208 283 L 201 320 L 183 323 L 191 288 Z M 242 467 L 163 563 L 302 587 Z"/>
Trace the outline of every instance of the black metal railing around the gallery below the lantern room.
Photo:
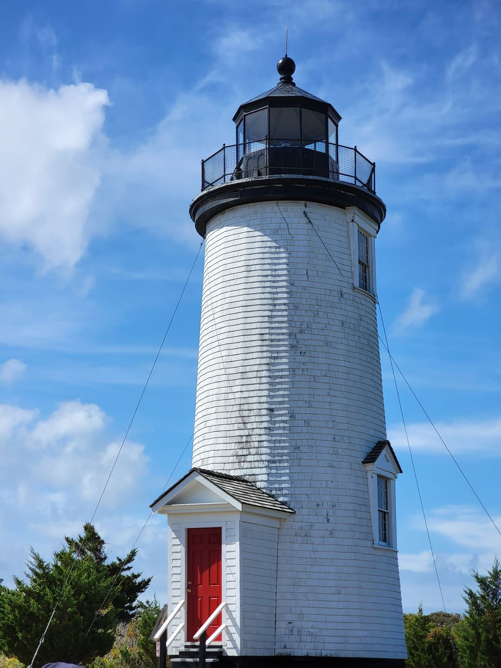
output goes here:
<path id="1" fill-rule="evenodd" d="M 357 147 L 316 140 L 265 138 L 222 145 L 202 160 L 202 190 L 242 178 L 314 176 L 351 183 L 375 192 L 375 163 Z"/>

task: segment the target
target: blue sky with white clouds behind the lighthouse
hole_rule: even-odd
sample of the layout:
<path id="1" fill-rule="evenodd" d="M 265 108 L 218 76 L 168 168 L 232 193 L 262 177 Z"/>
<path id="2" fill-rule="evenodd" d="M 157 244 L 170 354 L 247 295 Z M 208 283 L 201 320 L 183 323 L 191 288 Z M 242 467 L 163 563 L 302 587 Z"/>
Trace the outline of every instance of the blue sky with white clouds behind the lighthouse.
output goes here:
<path id="1" fill-rule="evenodd" d="M 200 238 L 200 159 L 277 82 L 377 164 L 393 357 L 501 526 L 501 118 L 495 1 L 39 0 L 0 8 L 0 577 L 90 517 Z M 192 433 L 202 255 L 96 524 L 126 552 Z M 382 351 L 383 353 L 384 351 Z M 442 602 L 387 357 L 403 606 Z M 501 538 L 401 386 L 446 607 Z M 190 465 L 190 449 L 176 474 Z M 176 476 L 175 474 L 175 476 Z M 6 548 L 8 546 L 8 548 Z M 165 597 L 166 529 L 138 565 Z M 150 594 L 152 593 L 150 591 Z"/>

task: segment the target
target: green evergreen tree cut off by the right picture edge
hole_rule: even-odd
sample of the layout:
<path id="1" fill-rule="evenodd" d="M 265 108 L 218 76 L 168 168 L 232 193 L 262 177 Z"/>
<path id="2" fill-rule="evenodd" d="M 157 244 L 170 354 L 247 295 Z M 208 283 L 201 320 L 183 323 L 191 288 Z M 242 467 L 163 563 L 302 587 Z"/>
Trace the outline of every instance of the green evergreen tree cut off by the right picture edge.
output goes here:
<path id="1" fill-rule="evenodd" d="M 501 668 L 501 568 L 498 558 L 487 575 L 474 572 L 477 591 L 466 587 L 467 609 L 459 626 L 463 668 Z"/>

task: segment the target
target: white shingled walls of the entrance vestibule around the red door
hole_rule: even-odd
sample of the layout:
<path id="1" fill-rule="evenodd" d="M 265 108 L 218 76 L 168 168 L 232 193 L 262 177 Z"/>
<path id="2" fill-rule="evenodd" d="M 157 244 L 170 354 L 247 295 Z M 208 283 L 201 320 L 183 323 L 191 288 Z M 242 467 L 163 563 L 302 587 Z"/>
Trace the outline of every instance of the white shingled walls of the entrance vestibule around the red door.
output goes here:
<path id="1" fill-rule="evenodd" d="M 174 507 L 174 506 L 173 506 Z M 165 512 L 165 511 L 164 511 Z M 280 525 L 287 522 L 259 512 L 211 510 L 189 514 L 168 512 L 168 609 L 186 601 L 187 530 L 221 527 L 222 647 L 229 656 L 275 655 L 277 555 Z M 204 521 L 200 521 L 203 517 Z M 186 621 L 186 605 L 168 633 Z M 168 653 L 176 655 L 186 642 L 186 625 Z"/>

